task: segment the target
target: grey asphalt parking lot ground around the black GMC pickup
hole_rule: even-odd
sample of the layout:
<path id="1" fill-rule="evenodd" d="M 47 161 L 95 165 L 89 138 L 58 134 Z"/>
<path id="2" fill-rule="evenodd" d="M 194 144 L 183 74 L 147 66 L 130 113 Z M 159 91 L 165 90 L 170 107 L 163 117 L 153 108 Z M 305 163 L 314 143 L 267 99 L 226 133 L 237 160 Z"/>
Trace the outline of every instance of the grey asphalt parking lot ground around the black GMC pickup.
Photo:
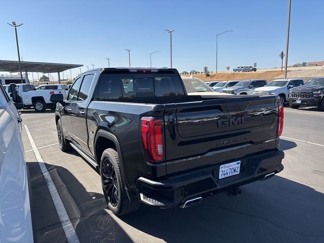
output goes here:
<path id="1" fill-rule="evenodd" d="M 285 107 L 285 170 L 242 186 L 240 197 L 221 193 L 186 209 L 142 205 L 118 218 L 106 207 L 98 172 L 73 150 L 60 151 L 54 112 L 22 110 L 37 242 L 66 238 L 26 129 L 80 242 L 323 242 L 323 115 L 313 107 Z"/>

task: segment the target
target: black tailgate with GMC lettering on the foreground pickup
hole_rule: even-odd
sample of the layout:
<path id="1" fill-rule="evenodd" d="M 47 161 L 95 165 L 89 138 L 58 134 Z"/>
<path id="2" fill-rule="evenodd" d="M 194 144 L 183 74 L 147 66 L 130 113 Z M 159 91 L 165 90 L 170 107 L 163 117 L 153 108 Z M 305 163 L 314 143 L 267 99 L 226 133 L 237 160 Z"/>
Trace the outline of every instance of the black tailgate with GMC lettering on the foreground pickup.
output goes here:
<path id="1" fill-rule="evenodd" d="M 275 149 L 277 107 L 275 96 L 166 105 L 167 174 Z"/>

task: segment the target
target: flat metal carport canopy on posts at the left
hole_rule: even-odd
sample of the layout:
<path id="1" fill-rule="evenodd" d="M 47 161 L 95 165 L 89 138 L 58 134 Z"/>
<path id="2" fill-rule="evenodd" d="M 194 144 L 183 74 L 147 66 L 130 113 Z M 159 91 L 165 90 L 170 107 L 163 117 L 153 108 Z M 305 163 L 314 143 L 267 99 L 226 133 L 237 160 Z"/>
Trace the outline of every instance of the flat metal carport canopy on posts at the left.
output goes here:
<path id="1" fill-rule="evenodd" d="M 21 71 L 23 72 L 43 72 L 43 73 L 52 73 L 57 72 L 60 81 L 60 72 L 63 72 L 68 69 L 82 67 L 80 64 L 65 64 L 65 63 L 49 63 L 49 62 L 25 62 L 21 61 Z M 19 62 L 18 61 L 8 61 L 0 60 L 0 71 L 2 72 L 19 72 Z M 27 76 L 27 75 L 26 75 Z M 28 76 L 27 76 L 28 77 Z M 26 79 L 26 83 L 28 79 Z"/>

